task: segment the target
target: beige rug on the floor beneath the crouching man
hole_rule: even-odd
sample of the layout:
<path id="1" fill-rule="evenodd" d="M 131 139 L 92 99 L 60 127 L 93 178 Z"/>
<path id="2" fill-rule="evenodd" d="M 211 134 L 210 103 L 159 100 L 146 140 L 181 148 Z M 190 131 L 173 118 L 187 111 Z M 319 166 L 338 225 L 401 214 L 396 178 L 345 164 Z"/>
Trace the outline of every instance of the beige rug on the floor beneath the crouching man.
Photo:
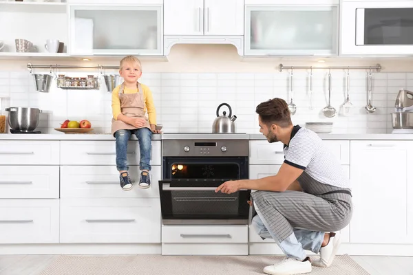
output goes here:
<path id="1" fill-rule="evenodd" d="M 314 261 L 318 256 L 311 256 Z M 59 256 L 39 275 L 252 275 L 282 256 Z M 350 258 L 336 256 L 329 268 L 313 267 L 312 275 L 368 275 Z"/>

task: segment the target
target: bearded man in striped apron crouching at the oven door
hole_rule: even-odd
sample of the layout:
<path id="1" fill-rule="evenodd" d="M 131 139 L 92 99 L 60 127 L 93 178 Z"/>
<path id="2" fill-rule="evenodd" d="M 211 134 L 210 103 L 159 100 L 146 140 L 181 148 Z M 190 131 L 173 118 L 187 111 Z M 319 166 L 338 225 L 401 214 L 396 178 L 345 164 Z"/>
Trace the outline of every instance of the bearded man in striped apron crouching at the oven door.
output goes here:
<path id="1" fill-rule="evenodd" d="M 256 112 L 260 133 L 268 142 L 284 144 L 284 164 L 277 175 L 226 181 L 215 192 L 257 190 L 251 193 L 257 212 L 253 225 L 262 238 L 277 241 L 287 256 L 265 267 L 266 274 L 311 272 L 312 263 L 304 250 L 320 253 L 313 265 L 329 267 L 340 245 L 340 234 L 335 231 L 345 228 L 352 217 L 348 177 L 316 133 L 293 126 L 284 100 L 262 102 Z"/>

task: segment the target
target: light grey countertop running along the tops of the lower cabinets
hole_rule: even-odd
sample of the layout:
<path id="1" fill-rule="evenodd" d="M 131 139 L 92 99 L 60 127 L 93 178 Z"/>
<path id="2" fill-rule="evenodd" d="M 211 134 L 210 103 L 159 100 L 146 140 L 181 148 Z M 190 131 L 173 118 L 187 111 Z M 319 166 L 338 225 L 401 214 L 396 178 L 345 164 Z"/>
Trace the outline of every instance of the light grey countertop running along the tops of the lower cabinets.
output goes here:
<path id="1" fill-rule="evenodd" d="M 182 137 L 189 137 L 188 133 L 164 133 L 153 134 L 152 140 L 171 140 L 181 139 Z M 266 140 L 264 135 L 260 133 L 245 134 L 245 135 L 231 135 L 231 134 L 207 134 L 204 135 L 205 140 L 209 139 L 247 139 L 248 140 Z M 379 133 L 379 134 L 320 134 L 322 140 L 413 140 L 413 134 L 392 134 L 392 133 Z M 110 134 L 12 134 L 5 133 L 0 134 L 0 140 L 115 140 Z M 136 140 L 134 135 L 131 136 L 131 140 Z"/>

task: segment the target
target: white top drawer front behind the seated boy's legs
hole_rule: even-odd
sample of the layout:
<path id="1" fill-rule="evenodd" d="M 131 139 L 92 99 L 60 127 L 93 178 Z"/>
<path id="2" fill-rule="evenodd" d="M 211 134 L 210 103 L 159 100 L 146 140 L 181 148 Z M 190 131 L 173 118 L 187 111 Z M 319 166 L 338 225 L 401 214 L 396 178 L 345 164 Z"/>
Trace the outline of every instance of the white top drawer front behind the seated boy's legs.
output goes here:
<path id="1" fill-rule="evenodd" d="M 127 162 L 138 165 L 139 143 L 129 140 Z M 160 141 L 152 141 L 151 165 L 160 165 Z M 116 165 L 115 141 L 62 141 L 61 165 Z"/>

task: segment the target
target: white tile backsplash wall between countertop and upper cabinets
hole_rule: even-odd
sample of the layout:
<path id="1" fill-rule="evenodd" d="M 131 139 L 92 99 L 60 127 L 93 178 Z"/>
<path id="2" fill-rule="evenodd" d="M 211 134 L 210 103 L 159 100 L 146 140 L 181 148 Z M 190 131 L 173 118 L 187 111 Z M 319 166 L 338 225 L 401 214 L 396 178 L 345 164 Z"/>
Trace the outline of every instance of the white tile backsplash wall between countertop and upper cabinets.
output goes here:
<path id="1" fill-rule="evenodd" d="M 114 73 L 106 72 L 106 73 Z M 41 72 L 36 72 L 41 73 Z M 44 72 L 47 73 L 47 72 Z M 85 76 L 96 72 L 59 72 L 70 76 Z M 340 113 L 326 118 L 322 109 L 328 101 L 326 71 L 313 72 L 313 109 L 310 109 L 309 74 L 295 70 L 293 76 L 294 102 L 297 113 L 294 124 L 305 122 L 334 122 L 333 133 L 390 133 L 390 112 L 399 89 L 413 89 L 412 73 L 373 73 L 372 102 L 375 113 L 366 113 L 367 72 L 350 70 L 350 101 L 352 113 L 341 115 L 346 96 L 346 71 L 332 70 L 331 104 Z M 0 97 L 10 97 L 12 107 L 36 107 L 44 111 L 38 129 L 44 133 L 57 133 L 63 120 L 92 122 L 96 132 L 108 133 L 112 119 L 111 94 L 100 90 L 64 90 L 52 83 L 49 93 L 35 90 L 33 76 L 27 71 L 0 72 Z M 270 98 L 288 99 L 288 72 L 274 73 L 144 73 L 141 82 L 151 88 L 157 109 L 158 123 L 164 132 L 211 132 L 215 111 L 222 102 L 229 103 L 237 115 L 238 132 L 258 133 L 257 104 Z M 224 111 L 224 108 L 221 112 Z"/>

